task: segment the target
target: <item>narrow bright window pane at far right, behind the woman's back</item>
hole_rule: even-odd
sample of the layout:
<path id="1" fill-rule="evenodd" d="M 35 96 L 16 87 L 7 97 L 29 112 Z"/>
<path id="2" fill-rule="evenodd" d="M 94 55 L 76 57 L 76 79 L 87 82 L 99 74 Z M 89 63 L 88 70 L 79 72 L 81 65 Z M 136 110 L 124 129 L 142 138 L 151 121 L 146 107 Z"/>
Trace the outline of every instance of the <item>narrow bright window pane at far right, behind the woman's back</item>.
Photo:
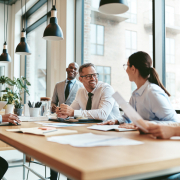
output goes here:
<path id="1" fill-rule="evenodd" d="M 170 100 L 176 110 L 180 110 L 180 1 L 165 1 L 166 28 L 166 88 L 171 94 Z"/>

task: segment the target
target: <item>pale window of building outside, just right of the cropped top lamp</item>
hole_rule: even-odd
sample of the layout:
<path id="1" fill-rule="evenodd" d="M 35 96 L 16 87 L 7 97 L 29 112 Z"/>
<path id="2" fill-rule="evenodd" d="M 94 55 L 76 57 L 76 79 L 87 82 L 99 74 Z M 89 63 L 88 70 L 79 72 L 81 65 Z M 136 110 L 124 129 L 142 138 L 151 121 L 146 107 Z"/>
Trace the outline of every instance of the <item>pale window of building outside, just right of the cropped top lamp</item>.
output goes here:
<path id="1" fill-rule="evenodd" d="M 137 23 L 137 0 L 128 0 L 128 14 L 129 14 L 129 19 L 126 20 L 126 22 L 129 23 Z"/>

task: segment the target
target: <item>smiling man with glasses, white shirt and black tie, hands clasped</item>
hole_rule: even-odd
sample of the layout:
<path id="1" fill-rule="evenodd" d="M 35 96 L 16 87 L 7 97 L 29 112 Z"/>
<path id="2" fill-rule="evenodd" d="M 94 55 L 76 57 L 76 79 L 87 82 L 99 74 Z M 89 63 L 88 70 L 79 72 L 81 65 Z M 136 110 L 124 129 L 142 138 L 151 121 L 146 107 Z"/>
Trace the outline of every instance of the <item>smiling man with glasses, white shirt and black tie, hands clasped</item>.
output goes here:
<path id="1" fill-rule="evenodd" d="M 81 87 L 73 103 L 57 108 L 58 117 L 86 117 L 89 119 L 120 119 L 119 106 L 112 98 L 114 90 L 107 83 L 98 81 L 99 74 L 92 63 L 83 64 L 79 68 Z"/>

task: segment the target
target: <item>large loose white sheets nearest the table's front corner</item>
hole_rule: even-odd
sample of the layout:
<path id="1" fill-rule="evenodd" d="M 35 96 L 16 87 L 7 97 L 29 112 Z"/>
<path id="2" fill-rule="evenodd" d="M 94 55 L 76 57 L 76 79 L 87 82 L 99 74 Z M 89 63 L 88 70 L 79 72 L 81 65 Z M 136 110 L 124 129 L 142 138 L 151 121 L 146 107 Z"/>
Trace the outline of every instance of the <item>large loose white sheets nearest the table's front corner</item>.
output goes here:
<path id="1" fill-rule="evenodd" d="M 69 144 L 74 147 L 94 147 L 94 146 L 126 146 L 139 145 L 143 142 L 118 136 L 96 135 L 92 133 L 54 136 L 47 138 L 48 141 Z"/>

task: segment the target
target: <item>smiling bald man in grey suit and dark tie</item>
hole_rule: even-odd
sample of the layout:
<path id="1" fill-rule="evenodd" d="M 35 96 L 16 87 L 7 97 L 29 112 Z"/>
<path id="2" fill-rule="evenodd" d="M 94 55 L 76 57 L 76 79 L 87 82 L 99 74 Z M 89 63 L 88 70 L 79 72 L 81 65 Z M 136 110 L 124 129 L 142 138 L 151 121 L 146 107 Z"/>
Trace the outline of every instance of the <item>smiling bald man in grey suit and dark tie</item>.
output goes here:
<path id="1" fill-rule="evenodd" d="M 52 112 L 56 111 L 58 103 L 59 105 L 62 103 L 71 105 L 74 101 L 78 89 L 83 86 L 82 83 L 76 80 L 78 69 L 79 65 L 77 63 L 70 63 L 66 68 L 67 79 L 56 84 L 51 102 Z"/>

